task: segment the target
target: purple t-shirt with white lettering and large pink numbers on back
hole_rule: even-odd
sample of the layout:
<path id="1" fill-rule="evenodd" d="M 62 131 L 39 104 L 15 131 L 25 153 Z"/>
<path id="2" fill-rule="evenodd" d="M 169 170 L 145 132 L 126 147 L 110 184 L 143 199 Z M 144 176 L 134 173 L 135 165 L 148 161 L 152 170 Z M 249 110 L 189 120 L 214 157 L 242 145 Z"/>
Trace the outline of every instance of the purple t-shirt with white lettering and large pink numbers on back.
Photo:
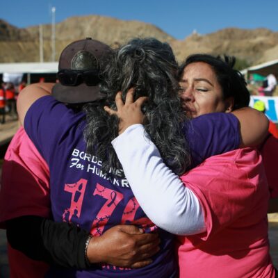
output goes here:
<path id="1" fill-rule="evenodd" d="M 235 117 L 229 118 L 232 124 L 226 146 L 234 149 L 238 147 L 235 139 L 239 138 L 238 122 Z M 200 119 L 193 123 L 202 122 L 201 117 Z M 210 124 L 206 125 L 205 131 L 213 128 L 212 121 L 208 123 Z M 186 128 L 190 130 L 187 133 L 188 140 L 193 136 L 199 142 L 196 136 L 202 129 L 195 129 L 193 126 L 195 125 L 189 124 Z M 102 172 L 101 161 L 85 152 L 84 127 L 83 113 L 74 113 L 51 96 L 35 101 L 25 117 L 26 133 L 49 165 L 54 220 L 72 222 L 94 236 L 101 235 L 116 224 L 135 224 L 147 232 L 157 230 L 161 238 L 161 251 L 154 256 L 153 263 L 145 268 L 131 270 L 113 265 L 102 265 L 101 268 L 92 270 L 51 268 L 49 277 L 175 277 L 178 267 L 174 258 L 172 234 L 158 229 L 147 218 L 122 170 L 118 170 L 115 176 Z M 209 136 L 215 134 L 209 133 Z M 207 138 L 211 140 L 209 136 L 204 135 L 204 141 Z M 214 145 L 211 150 L 218 149 L 219 142 L 211 142 Z M 199 143 L 193 154 L 205 145 L 207 142 Z M 207 154 L 208 151 L 202 152 L 200 157 L 205 158 Z"/>

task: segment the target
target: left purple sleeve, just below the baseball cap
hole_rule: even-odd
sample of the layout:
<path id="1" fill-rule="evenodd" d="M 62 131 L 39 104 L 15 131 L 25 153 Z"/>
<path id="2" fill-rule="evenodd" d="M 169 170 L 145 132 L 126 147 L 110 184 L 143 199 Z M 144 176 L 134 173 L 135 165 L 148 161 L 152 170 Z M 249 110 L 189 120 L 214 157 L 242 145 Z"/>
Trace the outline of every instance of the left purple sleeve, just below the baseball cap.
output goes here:
<path id="1" fill-rule="evenodd" d="M 76 125 L 82 118 L 83 113 L 74 113 L 65 104 L 51 96 L 45 96 L 28 109 L 24 129 L 49 164 L 56 149 L 66 140 L 72 140 Z"/>

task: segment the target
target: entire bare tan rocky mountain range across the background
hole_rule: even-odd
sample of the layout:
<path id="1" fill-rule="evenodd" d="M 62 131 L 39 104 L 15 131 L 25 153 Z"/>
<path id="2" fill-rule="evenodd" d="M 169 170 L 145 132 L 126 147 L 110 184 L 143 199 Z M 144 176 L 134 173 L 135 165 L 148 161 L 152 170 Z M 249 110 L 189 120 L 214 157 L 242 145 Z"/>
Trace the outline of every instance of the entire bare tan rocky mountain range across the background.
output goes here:
<path id="1" fill-rule="evenodd" d="M 99 15 L 70 17 L 57 23 L 56 60 L 60 51 L 81 38 L 92 37 L 111 47 L 134 37 L 154 37 L 169 42 L 179 61 L 189 54 L 228 54 L 248 65 L 278 58 L 278 32 L 266 28 L 225 28 L 207 35 L 193 33 L 176 40 L 160 28 L 138 21 L 124 21 Z M 0 19 L 0 63 L 36 62 L 40 60 L 40 26 L 17 28 Z M 44 61 L 51 60 L 51 24 L 42 26 Z"/>

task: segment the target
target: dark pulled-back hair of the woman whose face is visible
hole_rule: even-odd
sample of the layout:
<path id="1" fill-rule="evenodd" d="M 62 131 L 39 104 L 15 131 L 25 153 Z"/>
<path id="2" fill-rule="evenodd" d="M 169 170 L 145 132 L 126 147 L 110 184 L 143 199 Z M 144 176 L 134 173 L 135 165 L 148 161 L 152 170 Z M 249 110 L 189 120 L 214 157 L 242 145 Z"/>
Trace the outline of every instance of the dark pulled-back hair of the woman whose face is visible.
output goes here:
<path id="1" fill-rule="evenodd" d="M 236 58 L 233 56 L 214 57 L 208 54 L 193 54 L 188 56 L 179 67 L 179 77 L 183 75 L 185 67 L 191 63 L 203 62 L 211 65 L 218 82 L 222 88 L 224 99 L 234 97 L 234 110 L 249 105 L 250 92 L 247 89 L 247 83 L 243 75 L 234 70 Z"/>

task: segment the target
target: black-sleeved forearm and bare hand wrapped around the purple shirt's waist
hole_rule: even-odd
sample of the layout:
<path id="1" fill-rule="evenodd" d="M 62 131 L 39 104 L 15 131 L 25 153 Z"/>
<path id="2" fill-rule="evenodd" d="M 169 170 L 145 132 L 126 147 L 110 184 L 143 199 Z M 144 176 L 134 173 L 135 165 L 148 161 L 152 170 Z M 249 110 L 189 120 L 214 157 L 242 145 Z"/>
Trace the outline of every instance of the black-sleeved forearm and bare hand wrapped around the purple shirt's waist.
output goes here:
<path id="1" fill-rule="evenodd" d="M 133 225 L 116 225 L 94 238 L 74 224 L 33 215 L 8 220 L 6 226 L 8 242 L 14 249 L 64 268 L 97 269 L 100 263 L 141 268 L 160 250 L 158 234 L 144 234 Z"/>

